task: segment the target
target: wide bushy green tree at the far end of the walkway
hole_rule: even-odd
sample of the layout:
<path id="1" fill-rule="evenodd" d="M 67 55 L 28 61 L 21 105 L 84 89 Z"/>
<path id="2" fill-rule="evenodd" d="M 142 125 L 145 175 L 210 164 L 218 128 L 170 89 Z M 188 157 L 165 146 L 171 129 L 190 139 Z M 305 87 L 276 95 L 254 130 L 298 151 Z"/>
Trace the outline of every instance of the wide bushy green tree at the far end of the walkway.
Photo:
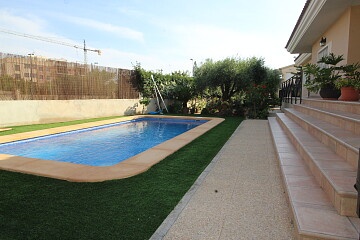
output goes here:
<path id="1" fill-rule="evenodd" d="M 219 114 L 246 112 L 251 118 L 267 116 L 279 81 L 278 71 L 266 68 L 264 60 L 256 57 L 226 58 L 216 62 L 207 59 L 195 71 L 197 88 L 203 96 L 211 98 L 207 110 L 215 109 Z"/>

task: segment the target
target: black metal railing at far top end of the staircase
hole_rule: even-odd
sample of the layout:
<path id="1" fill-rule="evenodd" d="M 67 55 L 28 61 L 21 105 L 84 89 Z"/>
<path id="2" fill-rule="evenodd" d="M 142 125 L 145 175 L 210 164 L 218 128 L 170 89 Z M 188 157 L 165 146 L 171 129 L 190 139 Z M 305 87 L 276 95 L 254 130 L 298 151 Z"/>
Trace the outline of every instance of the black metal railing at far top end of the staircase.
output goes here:
<path id="1" fill-rule="evenodd" d="M 281 84 L 279 91 L 280 105 L 286 103 L 300 103 L 302 101 L 302 72 L 297 72 L 294 76 Z"/>

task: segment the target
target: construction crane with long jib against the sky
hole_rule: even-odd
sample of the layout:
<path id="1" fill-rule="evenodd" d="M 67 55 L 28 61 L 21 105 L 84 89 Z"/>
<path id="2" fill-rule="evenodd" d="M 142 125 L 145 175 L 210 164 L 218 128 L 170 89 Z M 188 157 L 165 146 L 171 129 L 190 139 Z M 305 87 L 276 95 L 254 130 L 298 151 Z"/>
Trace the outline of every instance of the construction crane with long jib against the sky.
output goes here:
<path id="1" fill-rule="evenodd" d="M 74 48 L 77 48 L 77 49 L 82 49 L 84 51 L 84 64 L 85 65 L 87 65 L 87 51 L 96 52 L 98 55 L 101 55 L 101 50 L 87 48 L 85 40 L 84 40 L 84 45 L 80 46 L 80 45 L 73 45 L 73 44 L 67 43 L 67 42 L 62 42 L 62 41 L 59 41 L 59 40 L 56 40 L 56 39 L 50 39 L 50 38 L 46 38 L 46 37 L 35 36 L 35 35 L 27 34 L 27 33 L 19 33 L 19 32 L 7 30 L 7 29 L 1 29 L 0 28 L 0 32 L 16 35 L 16 36 L 20 36 L 20 37 L 36 39 L 36 40 L 39 40 L 39 41 L 44 41 L 44 42 L 49 42 L 49 43 L 54 43 L 54 44 L 60 44 L 60 45 L 63 45 L 63 46 L 74 47 Z"/>

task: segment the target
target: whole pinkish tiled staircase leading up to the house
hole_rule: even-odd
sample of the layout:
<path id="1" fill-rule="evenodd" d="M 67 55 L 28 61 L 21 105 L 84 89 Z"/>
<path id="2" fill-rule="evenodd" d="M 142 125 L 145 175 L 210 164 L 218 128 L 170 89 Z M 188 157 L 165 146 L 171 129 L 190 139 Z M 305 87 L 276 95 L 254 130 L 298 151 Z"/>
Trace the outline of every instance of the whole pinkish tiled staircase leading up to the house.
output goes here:
<path id="1" fill-rule="evenodd" d="M 360 239 L 360 102 L 303 99 L 268 120 L 298 239 Z"/>

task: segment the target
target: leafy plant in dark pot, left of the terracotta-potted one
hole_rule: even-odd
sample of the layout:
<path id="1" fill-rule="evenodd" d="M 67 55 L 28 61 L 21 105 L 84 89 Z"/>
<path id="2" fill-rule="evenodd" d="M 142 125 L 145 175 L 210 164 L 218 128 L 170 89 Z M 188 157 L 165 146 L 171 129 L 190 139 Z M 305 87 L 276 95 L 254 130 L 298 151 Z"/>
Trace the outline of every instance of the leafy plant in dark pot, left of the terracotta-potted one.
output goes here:
<path id="1" fill-rule="evenodd" d="M 338 99 L 340 90 L 336 88 L 336 81 L 341 78 L 342 67 L 337 66 L 343 55 L 330 53 L 322 57 L 317 63 L 304 66 L 306 81 L 304 86 L 311 92 L 320 94 L 323 99 Z"/>

